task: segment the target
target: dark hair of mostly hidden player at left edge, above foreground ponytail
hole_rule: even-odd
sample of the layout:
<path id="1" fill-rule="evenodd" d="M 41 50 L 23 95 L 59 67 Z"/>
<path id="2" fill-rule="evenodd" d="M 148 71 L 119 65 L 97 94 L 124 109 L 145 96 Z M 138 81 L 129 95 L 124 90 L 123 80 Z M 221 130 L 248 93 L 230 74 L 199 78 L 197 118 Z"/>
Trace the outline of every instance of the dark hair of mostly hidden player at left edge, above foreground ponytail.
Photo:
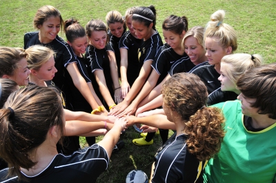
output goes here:
<path id="1" fill-rule="evenodd" d="M 0 78 L 0 85 L 1 85 L 1 91 L 0 91 L 0 109 L 3 107 L 4 103 L 6 103 L 6 100 L 10 96 L 12 92 L 19 89 L 19 85 L 13 80 L 6 79 L 6 78 Z"/>

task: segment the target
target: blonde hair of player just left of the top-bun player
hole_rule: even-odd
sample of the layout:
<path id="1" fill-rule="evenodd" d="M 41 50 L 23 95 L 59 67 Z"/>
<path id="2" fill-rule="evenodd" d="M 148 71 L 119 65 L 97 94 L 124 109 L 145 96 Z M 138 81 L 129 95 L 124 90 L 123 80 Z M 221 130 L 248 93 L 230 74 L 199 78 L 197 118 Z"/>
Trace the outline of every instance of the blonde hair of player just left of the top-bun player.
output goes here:
<path id="1" fill-rule="evenodd" d="M 185 50 L 185 39 L 187 39 L 189 36 L 193 36 L 195 39 L 197 39 L 197 42 L 199 43 L 199 45 L 201 45 L 202 47 L 204 47 L 204 40 L 203 40 L 203 34 L 204 34 L 204 28 L 200 27 L 200 26 L 195 26 L 193 28 L 190 28 L 183 40 L 182 40 L 182 49 Z"/>

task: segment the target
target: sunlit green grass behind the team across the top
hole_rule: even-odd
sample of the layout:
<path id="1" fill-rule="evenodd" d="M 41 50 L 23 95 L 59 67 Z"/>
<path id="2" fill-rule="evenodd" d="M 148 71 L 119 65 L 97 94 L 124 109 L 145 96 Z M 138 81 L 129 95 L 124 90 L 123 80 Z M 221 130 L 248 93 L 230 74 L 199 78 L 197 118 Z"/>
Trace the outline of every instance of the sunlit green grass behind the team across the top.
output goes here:
<path id="1" fill-rule="evenodd" d="M 77 3 L 81 2 L 81 3 Z M 63 19 L 75 17 L 81 25 L 90 19 L 105 19 L 110 10 L 119 10 L 124 14 L 131 6 L 154 5 L 157 9 L 157 30 L 161 32 L 161 23 L 170 14 L 185 15 L 189 20 L 189 28 L 195 25 L 204 26 L 210 14 L 216 10 L 226 10 L 224 23 L 237 30 L 238 49 L 236 52 L 262 54 L 267 63 L 275 62 L 276 47 L 276 1 L 0 1 L 0 45 L 23 47 L 23 34 L 34 30 L 32 19 L 37 9 L 43 5 L 52 5 L 61 11 Z M 64 38 L 64 34 L 61 34 Z"/>

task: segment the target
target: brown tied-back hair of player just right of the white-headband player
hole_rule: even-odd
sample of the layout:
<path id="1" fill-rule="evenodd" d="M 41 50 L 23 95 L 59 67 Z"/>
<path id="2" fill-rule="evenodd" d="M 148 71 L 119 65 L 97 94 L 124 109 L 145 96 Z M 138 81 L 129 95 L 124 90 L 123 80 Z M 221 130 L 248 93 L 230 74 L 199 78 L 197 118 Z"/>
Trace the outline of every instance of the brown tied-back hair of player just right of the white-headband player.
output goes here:
<path id="1" fill-rule="evenodd" d="M 185 32 L 188 30 L 188 19 L 184 16 L 177 17 L 175 15 L 170 15 L 170 17 L 166 18 L 162 23 L 162 29 L 181 35 L 184 30 Z"/>

